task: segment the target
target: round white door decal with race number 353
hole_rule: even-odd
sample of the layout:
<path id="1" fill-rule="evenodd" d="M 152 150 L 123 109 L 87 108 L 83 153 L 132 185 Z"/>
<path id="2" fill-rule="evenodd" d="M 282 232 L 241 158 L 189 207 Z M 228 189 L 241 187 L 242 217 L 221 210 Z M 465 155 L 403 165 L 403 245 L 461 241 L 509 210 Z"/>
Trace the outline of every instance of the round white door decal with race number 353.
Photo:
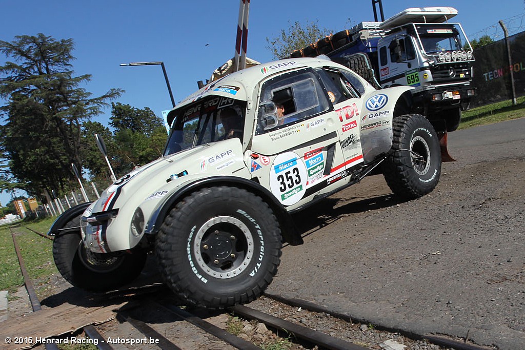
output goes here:
<path id="1" fill-rule="evenodd" d="M 282 205 L 301 200 L 307 181 L 306 165 L 298 154 L 285 152 L 275 157 L 270 170 L 270 190 Z"/>

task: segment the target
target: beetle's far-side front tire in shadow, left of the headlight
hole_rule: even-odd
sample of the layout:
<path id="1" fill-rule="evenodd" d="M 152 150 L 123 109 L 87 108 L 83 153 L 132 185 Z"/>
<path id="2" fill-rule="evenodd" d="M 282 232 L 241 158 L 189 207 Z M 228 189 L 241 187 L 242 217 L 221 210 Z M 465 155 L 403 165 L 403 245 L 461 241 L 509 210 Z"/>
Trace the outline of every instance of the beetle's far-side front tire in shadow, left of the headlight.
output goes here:
<path id="1" fill-rule="evenodd" d="M 80 216 L 64 228 L 80 226 Z M 86 250 L 78 231 L 64 231 L 53 240 L 53 259 L 58 271 L 75 287 L 91 291 L 116 290 L 133 281 L 146 263 L 146 252 L 99 254 Z"/>

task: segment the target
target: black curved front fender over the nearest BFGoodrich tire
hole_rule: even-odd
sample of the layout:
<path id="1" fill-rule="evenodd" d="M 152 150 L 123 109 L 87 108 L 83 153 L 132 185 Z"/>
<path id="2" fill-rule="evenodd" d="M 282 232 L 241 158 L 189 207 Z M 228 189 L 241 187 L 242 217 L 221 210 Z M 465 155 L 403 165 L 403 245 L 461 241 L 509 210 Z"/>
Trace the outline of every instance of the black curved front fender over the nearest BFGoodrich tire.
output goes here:
<path id="1" fill-rule="evenodd" d="M 283 240 L 290 243 L 292 246 L 303 243 L 302 237 L 288 214 L 288 211 L 286 211 L 282 204 L 279 203 L 277 198 L 272 195 L 268 189 L 262 187 L 258 183 L 236 176 L 212 176 L 204 179 L 195 179 L 195 181 L 187 182 L 184 185 L 172 189 L 171 192 L 167 193 L 156 205 L 148 220 L 148 224 L 146 224 L 144 233 L 146 235 L 156 234 L 169 211 L 180 199 L 196 190 L 210 186 L 235 186 L 244 188 L 260 196 L 274 211 L 281 227 Z"/>

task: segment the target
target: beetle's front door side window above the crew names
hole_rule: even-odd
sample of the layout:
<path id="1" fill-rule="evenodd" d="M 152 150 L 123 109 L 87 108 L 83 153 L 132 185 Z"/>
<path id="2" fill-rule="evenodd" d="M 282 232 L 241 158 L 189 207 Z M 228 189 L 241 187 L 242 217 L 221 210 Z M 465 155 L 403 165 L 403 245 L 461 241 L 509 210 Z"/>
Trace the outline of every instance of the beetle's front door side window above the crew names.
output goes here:
<path id="1" fill-rule="evenodd" d="M 259 105 L 274 102 L 277 110 L 277 126 L 295 123 L 321 112 L 328 111 L 330 104 L 313 71 L 301 70 L 285 73 L 262 85 Z M 264 110 L 264 111 L 263 111 Z M 257 133 L 263 131 L 268 112 L 259 108 Z"/>

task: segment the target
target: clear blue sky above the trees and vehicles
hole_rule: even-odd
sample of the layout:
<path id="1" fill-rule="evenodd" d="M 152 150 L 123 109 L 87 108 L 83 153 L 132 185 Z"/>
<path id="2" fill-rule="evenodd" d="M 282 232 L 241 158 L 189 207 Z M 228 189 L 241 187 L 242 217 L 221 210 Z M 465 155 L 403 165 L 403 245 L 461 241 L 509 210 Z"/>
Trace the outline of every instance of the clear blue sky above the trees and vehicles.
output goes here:
<path id="1" fill-rule="evenodd" d="M 496 5 L 495 5 L 496 4 Z M 467 35 L 524 12 L 522 0 L 495 3 L 488 0 L 393 1 L 383 0 L 385 17 L 408 7 L 451 6 L 459 14 Z M 120 67 L 120 63 L 164 61 L 175 97 L 183 100 L 213 70 L 232 58 L 235 50 L 238 0 L 157 1 L 3 1 L 0 39 L 43 33 L 75 41 L 74 69 L 90 74 L 85 86 L 94 96 L 110 88 L 126 92 L 118 102 L 149 107 L 157 115 L 171 108 L 160 66 Z M 277 1 L 252 0 L 248 30 L 248 57 L 271 60 L 266 37 L 275 37 L 288 21 L 318 20 L 320 27 L 336 31 L 373 20 L 371 0 Z M 348 24 L 350 21 L 350 25 Z M 3 64 L 5 57 L 0 57 Z M 95 120 L 107 125 L 110 109 Z M 0 194 L 2 204 L 9 195 Z"/>

